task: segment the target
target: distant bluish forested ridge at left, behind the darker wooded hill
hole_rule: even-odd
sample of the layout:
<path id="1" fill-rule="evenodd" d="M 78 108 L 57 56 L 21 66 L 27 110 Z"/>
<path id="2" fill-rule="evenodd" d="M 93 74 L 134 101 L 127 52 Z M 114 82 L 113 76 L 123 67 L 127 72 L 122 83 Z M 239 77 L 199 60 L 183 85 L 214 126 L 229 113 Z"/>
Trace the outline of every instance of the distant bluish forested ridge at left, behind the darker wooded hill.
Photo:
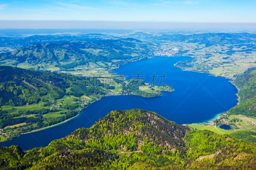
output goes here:
<path id="1" fill-rule="evenodd" d="M 16 49 L 12 52 L 1 53 L 0 59 L 14 59 L 23 63 L 46 63 L 49 61 L 64 61 L 75 59 L 82 64 L 101 61 L 124 60 L 133 58 L 131 53 L 138 55 L 147 54 L 150 49 L 147 43 L 136 41 L 135 39 L 125 40 L 99 40 L 86 41 L 82 43 L 46 43 L 31 44 L 27 47 Z M 140 50 L 143 48 L 143 50 Z M 93 50 L 92 50 L 93 49 Z M 97 50 L 97 52 L 95 52 Z M 76 62 L 74 61 L 74 62 Z"/>

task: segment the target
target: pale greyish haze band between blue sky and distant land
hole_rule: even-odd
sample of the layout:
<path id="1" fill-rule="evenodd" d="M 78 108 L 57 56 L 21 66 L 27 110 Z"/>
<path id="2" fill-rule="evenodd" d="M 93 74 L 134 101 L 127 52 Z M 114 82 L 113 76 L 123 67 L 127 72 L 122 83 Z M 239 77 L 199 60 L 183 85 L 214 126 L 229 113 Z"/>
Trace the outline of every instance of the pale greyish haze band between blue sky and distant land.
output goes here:
<path id="1" fill-rule="evenodd" d="M 251 32 L 256 23 L 196 23 L 147 21 L 0 20 L 0 29 L 135 29 L 166 31 Z"/>

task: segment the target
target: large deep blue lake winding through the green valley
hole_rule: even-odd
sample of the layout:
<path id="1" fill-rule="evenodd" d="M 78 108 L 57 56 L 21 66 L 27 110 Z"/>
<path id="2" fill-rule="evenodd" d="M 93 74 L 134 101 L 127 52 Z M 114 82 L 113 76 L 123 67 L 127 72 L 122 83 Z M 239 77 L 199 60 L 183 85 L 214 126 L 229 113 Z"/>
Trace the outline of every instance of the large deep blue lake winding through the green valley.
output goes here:
<path id="1" fill-rule="evenodd" d="M 0 146 L 20 145 L 23 150 L 47 146 L 52 140 L 65 137 L 78 128 L 89 128 L 95 121 L 116 109 L 140 108 L 154 111 L 170 121 L 183 123 L 200 123 L 211 121 L 217 114 L 234 107 L 237 103 L 235 86 L 222 77 L 206 73 L 181 71 L 174 64 L 190 60 L 191 57 L 154 57 L 147 60 L 121 65 L 116 70 L 119 74 L 145 73 L 147 82 L 151 82 L 153 73 L 163 75 L 165 84 L 175 91 L 166 92 L 159 97 L 144 98 L 140 96 L 109 96 L 92 103 L 82 113 L 68 122 L 58 126 L 20 135 L 13 140 L 1 142 Z M 157 78 L 158 83 L 160 78 Z M 163 82 L 162 82 L 163 83 Z"/>

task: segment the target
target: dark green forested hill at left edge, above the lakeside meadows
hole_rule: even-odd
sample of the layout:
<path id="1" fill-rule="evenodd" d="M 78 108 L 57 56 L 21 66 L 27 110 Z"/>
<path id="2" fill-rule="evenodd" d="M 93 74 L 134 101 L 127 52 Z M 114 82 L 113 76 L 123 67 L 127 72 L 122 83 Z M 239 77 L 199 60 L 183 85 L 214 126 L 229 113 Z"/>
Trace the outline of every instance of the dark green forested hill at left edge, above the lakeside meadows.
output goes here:
<path id="1" fill-rule="evenodd" d="M 100 88 L 100 81 L 95 78 L 42 73 L 10 66 L 0 66 L 0 75 L 0 106 L 37 103 L 44 100 L 42 97 L 47 94 L 53 99 L 60 99 L 65 94 L 80 97 Z M 71 89 L 66 92 L 69 87 Z"/>

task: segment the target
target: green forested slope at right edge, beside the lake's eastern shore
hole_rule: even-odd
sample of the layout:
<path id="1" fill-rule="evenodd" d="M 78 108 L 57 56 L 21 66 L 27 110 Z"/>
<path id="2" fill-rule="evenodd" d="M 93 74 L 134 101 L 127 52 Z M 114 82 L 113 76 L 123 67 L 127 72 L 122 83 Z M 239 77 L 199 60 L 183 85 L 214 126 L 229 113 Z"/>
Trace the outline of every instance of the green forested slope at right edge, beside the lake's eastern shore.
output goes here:
<path id="1" fill-rule="evenodd" d="M 233 82 L 239 89 L 239 105 L 229 109 L 230 114 L 256 116 L 256 68 L 248 69 Z"/>

